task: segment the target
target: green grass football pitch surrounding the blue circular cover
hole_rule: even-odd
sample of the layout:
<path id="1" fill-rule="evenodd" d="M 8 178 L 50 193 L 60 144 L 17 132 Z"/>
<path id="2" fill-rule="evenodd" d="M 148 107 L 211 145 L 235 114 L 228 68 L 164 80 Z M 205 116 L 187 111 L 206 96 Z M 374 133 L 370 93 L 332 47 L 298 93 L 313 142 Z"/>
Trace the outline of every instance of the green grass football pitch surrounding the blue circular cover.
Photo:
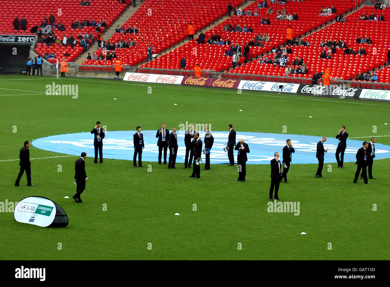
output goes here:
<path id="1" fill-rule="evenodd" d="M 78 85 L 78 98 L 46 95 L 52 82 Z M 25 175 L 14 186 L 25 140 L 89 132 L 97 120 L 108 130 L 156 130 L 163 121 L 171 129 L 189 121 L 219 131 L 233 123 L 239 132 L 282 134 L 287 126 L 288 134 L 318 137 L 335 137 L 345 125 L 349 137 L 374 135 L 389 145 L 389 103 L 87 78 L 1 76 L 0 83 L 0 201 L 44 196 L 69 217 L 67 227 L 43 228 L 1 212 L 2 260 L 389 258 L 389 159 L 374 160 L 377 179 L 370 185 L 352 183 L 353 162 L 344 169 L 332 164 L 328 172 L 325 164 L 324 178 L 314 177 L 317 164 L 292 164 L 279 196 L 300 202 L 299 216 L 267 211 L 267 164 L 247 165 L 246 182 L 235 182 L 237 169 L 225 164 L 211 165 L 196 180 L 182 164 L 144 162 L 152 166 L 148 172 L 129 160 L 92 164 L 89 154 L 85 202 L 75 203 L 78 157 L 31 146 L 30 157 L 40 158 L 31 160 L 35 186 L 27 187 Z"/>

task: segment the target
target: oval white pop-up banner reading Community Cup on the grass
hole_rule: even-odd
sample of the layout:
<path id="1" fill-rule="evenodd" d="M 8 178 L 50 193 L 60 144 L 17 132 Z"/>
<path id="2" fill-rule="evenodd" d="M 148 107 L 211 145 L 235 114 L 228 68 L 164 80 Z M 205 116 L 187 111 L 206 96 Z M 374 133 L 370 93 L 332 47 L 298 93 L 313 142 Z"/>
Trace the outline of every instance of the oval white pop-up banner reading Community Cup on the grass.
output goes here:
<path id="1" fill-rule="evenodd" d="M 42 227 L 67 226 L 69 223 L 65 211 L 57 203 L 41 196 L 23 198 L 16 205 L 14 218 Z"/>

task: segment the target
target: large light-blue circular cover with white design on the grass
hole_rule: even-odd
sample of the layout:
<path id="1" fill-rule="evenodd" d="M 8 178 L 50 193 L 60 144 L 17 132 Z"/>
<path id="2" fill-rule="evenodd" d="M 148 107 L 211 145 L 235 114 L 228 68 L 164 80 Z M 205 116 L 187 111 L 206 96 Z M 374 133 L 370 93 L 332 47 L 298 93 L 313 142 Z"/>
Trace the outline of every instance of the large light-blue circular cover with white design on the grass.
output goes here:
<path id="1" fill-rule="evenodd" d="M 103 139 L 103 158 L 105 159 L 122 159 L 133 160 L 134 143 L 133 134 L 131 131 L 107 131 Z M 210 152 L 211 164 L 228 163 L 227 153 L 223 151 L 226 147 L 229 132 L 211 132 L 214 137 L 214 144 Z M 158 146 L 155 130 L 143 130 L 145 149 L 142 152 L 142 162 L 158 161 Z M 184 132 L 178 131 L 176 162 L 184 163 L 186 147 L 184 145 Z M 295 153 L 293 153 L 293 164 L 311 164 L 318 163 L 316 159 L 317 143 L 321 136 L 311 135 L 292 135 L 292 134 L 266 134 L 256 132 L 237 132 L 236 141 L 243 138 L 248 144 L 250 153 L 248 153 L 248 161 L 246 164 L 269 164 L 273 159 L 275 152 L 282 157 L 282 149 L 286 145 L 286 139 L 291 139 Z M 200 133 L 200 139 L 204 142 L 204 132 Z M 356 152 L 362 147 L 363 141 L 369 141 L 370 138 L 361 139 L 359 141 L 347 139 L 347 149 L 344 153 L 344 162 L 355 162 Z M 338 139 L 328 137 L 324 143 L 324 148 L 328 148 L 325 153 L 324 162 L 336 162 L 335 152 Z M 69 155 L 80 155 L 86 152 L 88 157 L 94 157 L 94 135 L 90 132 L 81 132 L 76 134 L 61 134 L 49 137 L 43 137 L 32 141 L 35 148 L 48 150 L 51 152 L 65 153 Z M 203 144 L 204 148 L 204 144 Z M 234 157 L 237 159 L 237 152 L 234 151 Z M 169 150 L 167 152 L 167 161 Z M 205 155 L 202 154 L 204 162 Z M 386 159 L 390 157 L 390 146 L 384 144 L 375 144 L 375 159 Z"/>

